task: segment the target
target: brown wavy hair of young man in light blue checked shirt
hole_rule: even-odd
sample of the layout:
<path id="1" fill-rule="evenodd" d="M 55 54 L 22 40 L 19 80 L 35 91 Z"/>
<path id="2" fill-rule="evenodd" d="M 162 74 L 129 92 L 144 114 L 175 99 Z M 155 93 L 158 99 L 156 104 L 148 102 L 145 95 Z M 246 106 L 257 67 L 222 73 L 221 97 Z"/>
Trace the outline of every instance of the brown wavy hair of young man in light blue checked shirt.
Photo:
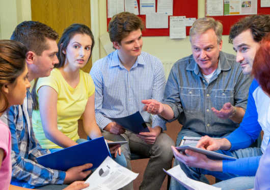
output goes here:
<path id="1" fill-rule="evenodd" d="M 133 13 L 122 12 L 113 16 L 108 25 L 108 31 L 111 42 L 117 42 L 121 45 L 122 39 L 127 37 L 132 31 L 140 29 L 143 31 L 144 22 L 140 17 Z M 116 49 L 114 47 L 114 49 Z"/>

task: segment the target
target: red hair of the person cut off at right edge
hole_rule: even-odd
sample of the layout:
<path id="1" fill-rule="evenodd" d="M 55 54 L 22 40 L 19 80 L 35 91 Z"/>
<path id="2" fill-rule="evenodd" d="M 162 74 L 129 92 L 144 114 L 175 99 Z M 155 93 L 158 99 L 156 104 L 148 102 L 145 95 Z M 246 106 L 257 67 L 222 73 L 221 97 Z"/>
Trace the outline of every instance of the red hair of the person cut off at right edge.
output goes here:
<path id="1" fill-rule="evenodd" d="M 256 52 L 252 67 L 252 74 L 257 79 L 262 90 L 270 95 L 270 33 L 261 41 Z"/>

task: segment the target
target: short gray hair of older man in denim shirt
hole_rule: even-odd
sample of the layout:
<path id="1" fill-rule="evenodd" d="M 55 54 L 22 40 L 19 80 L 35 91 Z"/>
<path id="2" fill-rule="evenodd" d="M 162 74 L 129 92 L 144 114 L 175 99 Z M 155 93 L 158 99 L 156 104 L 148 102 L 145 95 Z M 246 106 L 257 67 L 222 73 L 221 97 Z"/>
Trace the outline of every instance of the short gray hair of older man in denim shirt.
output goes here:
<path id="1" fill-rule="evenodd" d="M 190 30 L 190 41 L 192 41 L 193 37 L 200 36 L 209 29 L 214 30 L 215 35 L 217 35 L 218 37 L 218 44 L 219 44 L 222 40 L 223 26 L 220 21 L 210 17 L 204 17 L 195 20 Z"/>

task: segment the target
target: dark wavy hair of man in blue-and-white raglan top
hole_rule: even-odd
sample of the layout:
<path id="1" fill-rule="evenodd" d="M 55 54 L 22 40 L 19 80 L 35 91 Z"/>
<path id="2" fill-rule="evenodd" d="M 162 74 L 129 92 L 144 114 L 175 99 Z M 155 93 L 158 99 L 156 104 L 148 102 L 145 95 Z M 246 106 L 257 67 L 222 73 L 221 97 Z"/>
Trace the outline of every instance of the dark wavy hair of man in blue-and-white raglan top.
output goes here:
<path id="1" fill-rule="evenodd" d="M 237 23 L 231 26 L 229 43 L 233 42 L 233 39 L 245 32 L 251 31 L 255 42 L 259 42 L 270 32 L 270 15 L 252 15 L 240 19 Z"/>

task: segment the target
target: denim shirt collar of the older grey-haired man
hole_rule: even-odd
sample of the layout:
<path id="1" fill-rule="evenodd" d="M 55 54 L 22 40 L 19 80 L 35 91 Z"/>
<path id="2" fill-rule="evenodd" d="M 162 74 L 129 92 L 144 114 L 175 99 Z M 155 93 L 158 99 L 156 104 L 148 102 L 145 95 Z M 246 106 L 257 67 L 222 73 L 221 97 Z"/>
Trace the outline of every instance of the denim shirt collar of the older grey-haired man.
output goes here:
<path id="1" fill-rule="evenodd" d="M 185 68 L 186 70 L 194 71 L 195 74 L 199 74 L 200 72 L 200 67 L 199 65 L 195 62 L 194 58 L 192 59 L 191 63 Z M 220 56 L 219 56 L 219 63 L 218 63 L 218 68 L 216 70 L 217 75 L 221 73 L 221 71 L 227 71 L 230 70 L 231 66 L 228 63 L 228 59 L 225 56 L 225 54 L 220 51 Z"/>

